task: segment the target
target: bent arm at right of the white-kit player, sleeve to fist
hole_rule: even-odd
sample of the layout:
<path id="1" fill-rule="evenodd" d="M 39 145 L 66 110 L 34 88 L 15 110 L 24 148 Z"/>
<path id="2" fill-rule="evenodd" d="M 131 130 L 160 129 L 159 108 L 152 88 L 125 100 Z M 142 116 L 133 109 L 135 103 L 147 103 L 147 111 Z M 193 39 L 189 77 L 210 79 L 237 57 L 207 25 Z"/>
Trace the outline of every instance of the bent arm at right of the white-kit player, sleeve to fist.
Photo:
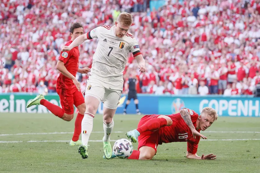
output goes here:
<path id="1" fill-rule="evenodd" d="M 138 63 L 138 68 L 140 69 L 139 71 L 142 73 L 145 72 L 146 71 L 145 60 L 140 51 L 139 44 L 135 38 L 133 38 L 132 42 L 130 43 L 130 51 L 133 53 L 133 56 L 135 57 Z"/>

